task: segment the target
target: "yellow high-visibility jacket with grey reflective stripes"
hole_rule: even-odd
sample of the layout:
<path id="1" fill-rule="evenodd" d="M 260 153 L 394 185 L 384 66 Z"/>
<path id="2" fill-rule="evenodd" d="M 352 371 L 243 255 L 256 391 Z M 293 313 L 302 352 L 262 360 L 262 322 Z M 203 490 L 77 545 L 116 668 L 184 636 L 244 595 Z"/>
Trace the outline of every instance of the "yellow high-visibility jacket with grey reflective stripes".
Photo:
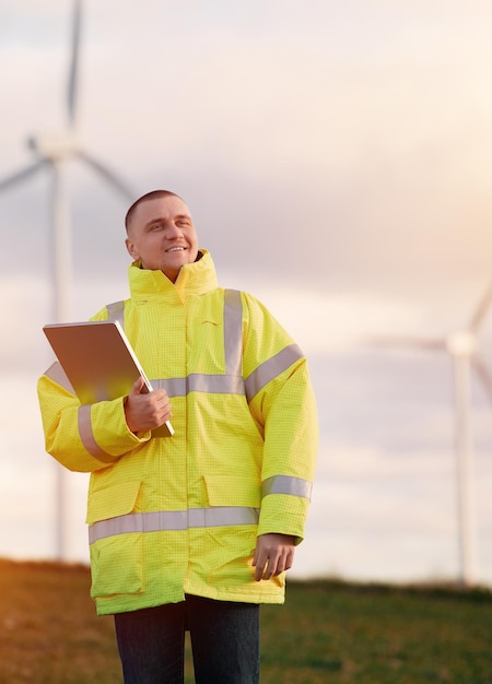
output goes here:
<path id="1" fill-rule="evenodd" d="M 317 451 L 306 358 L 251 295 L 220 288 L 208 251 L 176 283 L 133 263 L 119 317 L 175 433 L 131 433 L 124 398 L 81 405 L 56 362 L 38 381 L 46 450 L 91 472 L 87 523 L 99 614 L 181 601 L 282 603 L 256 582 L 258 534 L 303 539 Z"/>

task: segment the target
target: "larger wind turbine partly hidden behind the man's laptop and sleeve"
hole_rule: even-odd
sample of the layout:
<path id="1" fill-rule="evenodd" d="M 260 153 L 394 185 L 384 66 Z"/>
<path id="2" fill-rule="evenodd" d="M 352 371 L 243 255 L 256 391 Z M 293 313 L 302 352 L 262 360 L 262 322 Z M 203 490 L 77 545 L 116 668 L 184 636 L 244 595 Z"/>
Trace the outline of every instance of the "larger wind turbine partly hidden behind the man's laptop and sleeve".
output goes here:
<path id="1" fill-rule="evenodd" d="M 82 25 L 82 0 L 74 0 L 72 16 L 72 34 L 70 60 L 67 83 L 67 128 L 58 134 L 39 134 L 27 138 L 27 146 L 34 154 L 34 162 L 27 167 L 0 180 L 0 192 L 24 180 L 27 180 L 40 170 L 51 174 L 51 250 L 52 263 L 52 319 L 67 321 L 71 308 L 71 229 L 69 222 L 69 205 L 65 187 L 65 172 L 67 162 L 79 160 L 98 174 L 105 182 L 112 186 L 127 203 L 131 203 L 136 196 L 131 189 L 103 162 L 83 150 L 75 134 L 77 99 L 79 85 L 79 57 Z M 67 518 L 66 471 L 57 467 L 56 483 L 56 547 L 60 559 L 66 557 L 67 533 L 65 520 Z"/>

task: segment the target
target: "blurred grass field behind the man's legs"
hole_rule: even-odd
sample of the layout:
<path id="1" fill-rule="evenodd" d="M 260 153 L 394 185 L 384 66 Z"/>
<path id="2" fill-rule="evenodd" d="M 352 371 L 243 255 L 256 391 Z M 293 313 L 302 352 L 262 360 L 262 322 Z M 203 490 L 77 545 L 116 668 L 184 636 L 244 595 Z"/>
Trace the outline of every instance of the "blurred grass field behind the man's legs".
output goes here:
<path id="1" fill-rule="evenodd" d="M 113 620 L 96 617 L 89 586 L 85 566 L 0 561 L 1 684 L 121 682 Z M 485 589 L 291 580 L 261 630 L 262 684 L 492 684 Z M 191 684 L 188 646 L 187 661 Z"/>

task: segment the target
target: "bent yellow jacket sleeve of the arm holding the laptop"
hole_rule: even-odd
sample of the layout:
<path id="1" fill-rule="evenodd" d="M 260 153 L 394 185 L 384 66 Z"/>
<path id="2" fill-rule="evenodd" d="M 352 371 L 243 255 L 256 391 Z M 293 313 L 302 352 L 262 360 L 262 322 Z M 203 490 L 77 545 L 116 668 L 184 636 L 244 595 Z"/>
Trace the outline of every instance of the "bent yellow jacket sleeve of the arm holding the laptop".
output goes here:
<path id="1" fill-rule="evenodd" d="M 105 318 L 106 309 L 93 320 Z M 151 437 L 130 432 L 122 397 L 81 405 L 58 362 L 38 379 L 37 394 L 46 451 L 69 470 L 107 468 Z"/>

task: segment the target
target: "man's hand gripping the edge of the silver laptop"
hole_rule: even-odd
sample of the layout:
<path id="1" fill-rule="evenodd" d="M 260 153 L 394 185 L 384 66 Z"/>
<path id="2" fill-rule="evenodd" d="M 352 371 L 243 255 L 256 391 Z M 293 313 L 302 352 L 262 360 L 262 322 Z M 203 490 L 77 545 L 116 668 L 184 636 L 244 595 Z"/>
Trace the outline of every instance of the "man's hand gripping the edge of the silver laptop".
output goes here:
<path id="1" fill-rule="evenodd" d="M 142 393 L 143 388 L 143 378 L 139 377 L 125 402 L 125 417 L 132 433 L 155 429 L 172 416 L 165 390 Z"/>

